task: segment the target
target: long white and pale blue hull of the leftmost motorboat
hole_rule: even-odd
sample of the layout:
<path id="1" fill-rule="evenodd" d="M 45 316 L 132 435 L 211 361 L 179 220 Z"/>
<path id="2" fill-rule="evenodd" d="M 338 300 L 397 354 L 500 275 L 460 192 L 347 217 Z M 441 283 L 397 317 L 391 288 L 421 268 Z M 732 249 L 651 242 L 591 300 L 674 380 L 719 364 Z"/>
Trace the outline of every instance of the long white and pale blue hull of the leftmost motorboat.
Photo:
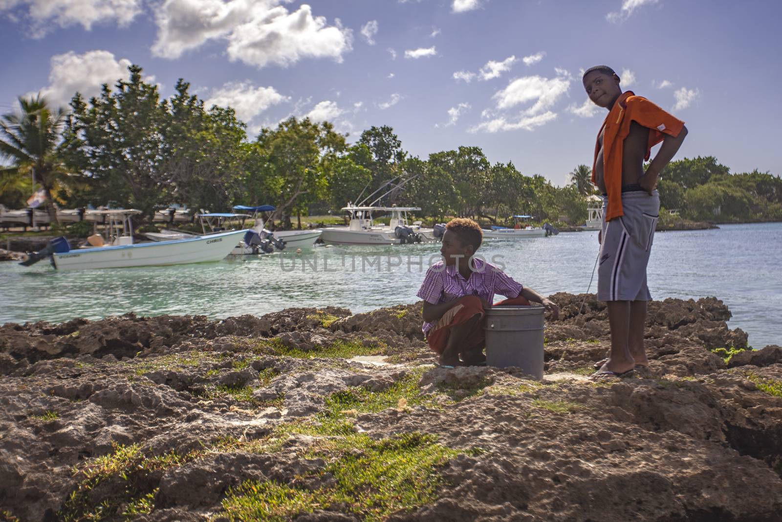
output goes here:
<path id="1" fill-rule="evenodd" d="M 88 270 L 220 261 L 231 252 L 245 232 L 235 230 L 180 241 L 74 250 L 66 254 L 53 254 L 52 262 L 58 270 Z"/>

